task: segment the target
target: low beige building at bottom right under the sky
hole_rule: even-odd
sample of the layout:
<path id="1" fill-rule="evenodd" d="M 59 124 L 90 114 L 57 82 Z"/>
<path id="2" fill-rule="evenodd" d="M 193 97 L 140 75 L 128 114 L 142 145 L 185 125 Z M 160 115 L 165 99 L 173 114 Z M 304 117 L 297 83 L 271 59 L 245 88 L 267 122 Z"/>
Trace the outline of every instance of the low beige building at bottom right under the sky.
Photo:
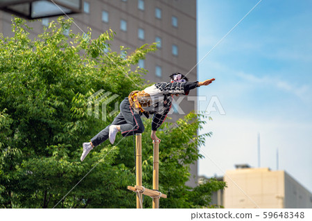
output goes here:
<path id="1" fill-rule="evenodd" d="M 312 193 L 284 170 L 238 166 L 227 170 L 223 181 L 227 188 L 214 193 L 212 204 L 226 209 L 312 208 Z"/>

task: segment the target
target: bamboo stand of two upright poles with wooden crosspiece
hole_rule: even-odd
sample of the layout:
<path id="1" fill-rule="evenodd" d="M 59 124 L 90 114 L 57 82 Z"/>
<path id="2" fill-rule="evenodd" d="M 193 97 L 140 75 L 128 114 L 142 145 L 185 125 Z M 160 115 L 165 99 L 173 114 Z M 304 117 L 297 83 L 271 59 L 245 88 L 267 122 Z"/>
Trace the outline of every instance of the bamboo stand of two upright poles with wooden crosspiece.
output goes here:
<path id="1" fill-rule="evenodd" d="M 166 198 L 167 195 L 160 193 L 159 188 L 159 142 L 154 142 L 154 156 L 153 156 L 153 190 L 142 186 L 142 145 L 141 134 L 136 134 L 136 174 L 137 185 L 128 186 L 128 190 L 137 193 L 137 209 L 142 209 L 142 194 L 153 198 L 153 209 L 159 209 L 159 198 Z"/>

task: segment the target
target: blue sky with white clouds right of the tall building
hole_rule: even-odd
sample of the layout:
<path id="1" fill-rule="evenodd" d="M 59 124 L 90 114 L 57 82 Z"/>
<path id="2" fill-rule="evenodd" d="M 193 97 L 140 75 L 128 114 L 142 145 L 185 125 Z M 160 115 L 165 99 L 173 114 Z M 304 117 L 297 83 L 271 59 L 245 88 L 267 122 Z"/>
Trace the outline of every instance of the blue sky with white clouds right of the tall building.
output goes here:
<path id="1" fill-rule="evenodd" d="M 198 0 L 198 61 L 258 2 Z M 263 0 L 198 64 L 198 80 L 216 78 L 198 89 L 207 99 L 198 109 L 220 102 L 199 132 L 213 135 L 198 175 L 257 168 L 259 134 L 261 168 L 285 170 L 312 192 L 311 21 L 312 1 Z"/>

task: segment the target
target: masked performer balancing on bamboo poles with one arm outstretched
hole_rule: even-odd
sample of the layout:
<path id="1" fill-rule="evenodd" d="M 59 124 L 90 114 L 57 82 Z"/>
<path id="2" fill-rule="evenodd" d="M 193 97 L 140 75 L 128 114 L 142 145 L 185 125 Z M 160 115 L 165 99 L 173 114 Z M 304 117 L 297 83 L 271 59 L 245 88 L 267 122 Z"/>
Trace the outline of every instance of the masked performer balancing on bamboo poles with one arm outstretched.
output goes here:
<path id="1" fill-rule="evenodd" d="M 144 125 L 141 120 L 142 114 L 146 117 L 149 114 L 154 114 L 150 137 L 153 141 L 160 142 L 160 139 L 156 136 L 156 131 L 171 109 L 173 94 L 188 95 L 191 89 L 209 85 L 215 80 L 211 78 L 203 82 L 189 82 L 189 79 L 182 73 L 173 73 L 170 78 L 171 82 L 158 82 L 143 91 L 132 91 L 128 98 L 121 102 L 120 113 L 114 118 L 112 124 L 94 136 L 91 142 L 83 143 L 83 154 L 80 160 L 83 161 L 90 150 L 107 139 L 110 139 L 110 143 L 113 144 L 118 132 L 121 132 L 123 136 L 144 132 Z"/>

